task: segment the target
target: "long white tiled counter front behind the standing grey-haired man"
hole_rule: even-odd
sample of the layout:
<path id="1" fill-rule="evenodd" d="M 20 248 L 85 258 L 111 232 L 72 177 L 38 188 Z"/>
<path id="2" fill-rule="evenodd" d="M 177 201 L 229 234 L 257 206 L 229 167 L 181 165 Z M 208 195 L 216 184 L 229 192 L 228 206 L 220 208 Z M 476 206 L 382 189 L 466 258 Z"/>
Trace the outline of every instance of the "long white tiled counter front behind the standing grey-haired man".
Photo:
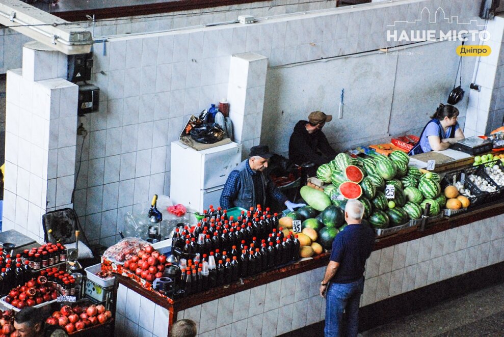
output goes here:
<path id="1" fill-rule="evenodd" d="M 366 263 L 361 306 L 504 261 L 504 215 L 376 250 Z M 276 336 L 325 318 L 325 267 L 188 308 L 198 336 Z"/>

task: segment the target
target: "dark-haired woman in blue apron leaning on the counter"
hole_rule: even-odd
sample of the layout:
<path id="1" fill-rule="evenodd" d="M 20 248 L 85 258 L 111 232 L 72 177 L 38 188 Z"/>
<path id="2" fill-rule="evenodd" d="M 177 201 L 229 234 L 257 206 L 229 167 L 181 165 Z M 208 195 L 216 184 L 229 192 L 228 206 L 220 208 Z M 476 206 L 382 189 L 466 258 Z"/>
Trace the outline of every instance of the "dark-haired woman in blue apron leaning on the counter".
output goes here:
<path id="1" fill-rule="evenodd" d="M 431 120 L 420 134 L 420 141 L 409 155 L 430 151 L 441 151 L 465 138 L 457 122 L 459 109 L 449 104 L 439 104 Z"/>

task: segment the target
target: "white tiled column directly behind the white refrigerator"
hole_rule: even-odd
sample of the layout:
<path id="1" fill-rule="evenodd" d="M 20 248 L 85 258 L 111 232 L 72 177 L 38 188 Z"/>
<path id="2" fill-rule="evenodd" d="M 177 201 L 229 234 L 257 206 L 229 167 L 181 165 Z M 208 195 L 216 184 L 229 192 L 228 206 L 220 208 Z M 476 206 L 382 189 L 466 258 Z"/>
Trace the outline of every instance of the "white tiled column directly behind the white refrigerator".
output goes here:
<path id="1" fill-rule="evenodd" d="M 234 141 L 243 144 L 242 156 L 259 145 L 268 59 L 247 52 L 231 56 L 229 68 L 229 118 L 233 122 Z"/>

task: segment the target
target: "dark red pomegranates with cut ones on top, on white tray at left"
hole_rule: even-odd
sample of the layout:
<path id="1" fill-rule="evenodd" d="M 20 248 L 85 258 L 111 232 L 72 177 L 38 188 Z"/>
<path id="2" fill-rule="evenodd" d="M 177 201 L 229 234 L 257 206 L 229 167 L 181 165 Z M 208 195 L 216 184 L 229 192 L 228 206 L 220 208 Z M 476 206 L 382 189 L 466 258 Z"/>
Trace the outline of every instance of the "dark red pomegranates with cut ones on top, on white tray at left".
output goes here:
<path id="1" fill-rule="evenodd" d="M 45 276 L 32 278 L 24 284 L 13 288 L 5 301 L 10 305 L 22 309 L 25 306 L 33 306 L 54 300 L 58 297 L 58 291 L 53 283 L 47 283 Z"/>

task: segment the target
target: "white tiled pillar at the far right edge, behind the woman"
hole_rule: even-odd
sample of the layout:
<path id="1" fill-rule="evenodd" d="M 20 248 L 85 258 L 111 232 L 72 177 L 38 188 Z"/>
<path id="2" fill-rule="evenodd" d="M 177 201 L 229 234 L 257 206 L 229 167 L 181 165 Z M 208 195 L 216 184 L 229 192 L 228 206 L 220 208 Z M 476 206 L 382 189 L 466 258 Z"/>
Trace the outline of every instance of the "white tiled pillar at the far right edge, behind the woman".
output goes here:
<path id="1" fill-rule="evenodd" d="M 469 92 L 466 127 L 464 135 L 489 134 L 502 126 L 504 119 L 504 16 L 496 16 L 488 22 L 490 41 L 484 45 L 490 46 L 492 52 L 488 57 L 482 57 L 478 65 L 475 83 L 481 86 L 481 91 Z"/>

